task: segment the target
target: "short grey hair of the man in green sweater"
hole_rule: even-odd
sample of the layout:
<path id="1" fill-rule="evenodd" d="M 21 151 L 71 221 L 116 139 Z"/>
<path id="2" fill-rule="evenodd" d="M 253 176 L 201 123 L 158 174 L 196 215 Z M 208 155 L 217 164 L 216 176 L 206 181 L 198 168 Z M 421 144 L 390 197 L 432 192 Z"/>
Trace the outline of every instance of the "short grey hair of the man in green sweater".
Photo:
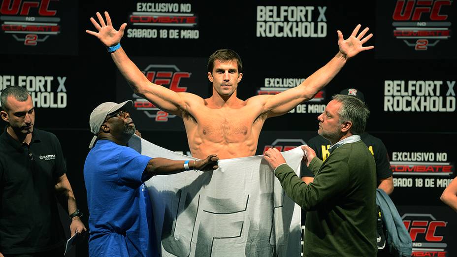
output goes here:
<path id="1" fill-rule="evenodd" d="M 334 95 L 332 99 L 341 102 L 338 115 L 340 122 L 352 122 L 351 133 L 360 135 L 365 131 L 366 120 L 370 115 L 370 110 L 364 102 L 354 96 Z"/>

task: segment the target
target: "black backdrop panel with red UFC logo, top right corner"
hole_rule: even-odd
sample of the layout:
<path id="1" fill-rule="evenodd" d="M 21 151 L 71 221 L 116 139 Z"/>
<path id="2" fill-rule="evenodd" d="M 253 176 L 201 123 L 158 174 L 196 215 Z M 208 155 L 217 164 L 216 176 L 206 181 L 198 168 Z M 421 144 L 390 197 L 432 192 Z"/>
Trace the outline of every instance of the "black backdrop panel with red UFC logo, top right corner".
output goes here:
<path id="1" fill-rule="evenodd" d="M 376 58 L 455 59 L 452 0 L 377 1 Z"/>

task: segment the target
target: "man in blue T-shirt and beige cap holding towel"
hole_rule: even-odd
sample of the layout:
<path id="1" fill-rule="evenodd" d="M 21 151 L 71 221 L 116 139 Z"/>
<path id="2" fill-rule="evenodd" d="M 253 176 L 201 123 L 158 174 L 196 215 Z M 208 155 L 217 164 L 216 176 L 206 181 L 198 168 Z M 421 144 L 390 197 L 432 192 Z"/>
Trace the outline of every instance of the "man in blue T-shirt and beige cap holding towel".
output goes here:
<path id="1" fill-rule="evenodd" d="M 126 111 L 132 104 L 131 100 L 102 103 L 89 121 L 96 134 L 84 164 L 90 256 L 158 256 L 144 182 L 154 175 L 218 168 L 216 155 L 201 161 L 172 161 L 152 159 L 128 147 L 135 132 Z"/>

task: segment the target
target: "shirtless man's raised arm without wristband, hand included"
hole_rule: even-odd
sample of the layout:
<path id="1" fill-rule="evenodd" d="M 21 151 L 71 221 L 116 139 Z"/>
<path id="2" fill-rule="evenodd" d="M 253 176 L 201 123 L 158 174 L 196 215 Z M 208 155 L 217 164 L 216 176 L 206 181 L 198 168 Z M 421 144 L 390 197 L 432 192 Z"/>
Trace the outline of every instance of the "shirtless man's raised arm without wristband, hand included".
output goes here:
<path id="1" fill-rule="evenodd" d="M 366 32 L 368 32 L 368 28 L 365 28 L 357 35 L 360 27 L 360 24 L 357 25 L 351 36 L 346 40 L 344 40 L 343 34 L 337 31 L 339 52 L 336 56 L 297 87 L 274 96 L 268 96 L 263 107 L 263 112 L 266 112 L 268 117 L 283 115 L 301 102 L 312 99 L 333 79 L 344 64 L 346 64 L 347 60 L 356 56 L 359 52 L 373 49 L 373 46 L 362 46 L 373 34 L 370 33 L 364 37 Z"/>

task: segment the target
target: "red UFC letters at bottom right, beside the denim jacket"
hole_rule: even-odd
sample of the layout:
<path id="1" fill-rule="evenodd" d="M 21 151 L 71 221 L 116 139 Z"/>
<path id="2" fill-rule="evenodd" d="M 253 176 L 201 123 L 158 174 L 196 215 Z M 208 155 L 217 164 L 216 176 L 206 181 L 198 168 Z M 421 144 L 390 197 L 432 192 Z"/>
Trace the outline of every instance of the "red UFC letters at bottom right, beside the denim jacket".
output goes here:
<path id="1" fill-rule="evenodd" d="M 416 241 L 418 234 L 425 234 L 425 240 L 427 242 L 440 242 L 443 241 L 442 236 L 436 236 L 436 228 L 446 227 L 444 221 L 403 221 L 406 229 L 409 231 L 411 240 Z M 410 227 L 411 226 L 411 227 Z"/>

